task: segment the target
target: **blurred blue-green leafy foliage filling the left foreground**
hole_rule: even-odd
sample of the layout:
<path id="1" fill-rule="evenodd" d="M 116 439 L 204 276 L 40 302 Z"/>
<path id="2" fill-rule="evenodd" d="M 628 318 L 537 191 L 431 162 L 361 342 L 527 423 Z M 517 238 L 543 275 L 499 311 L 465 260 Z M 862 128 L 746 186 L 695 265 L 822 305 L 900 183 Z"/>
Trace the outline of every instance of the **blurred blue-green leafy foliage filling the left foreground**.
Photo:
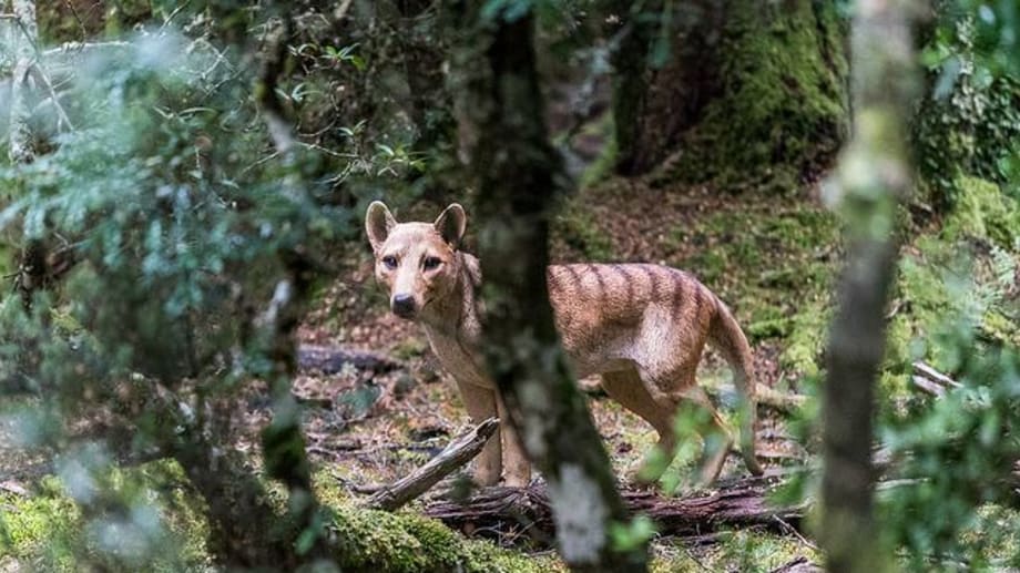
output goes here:
<path id="1" fill-rule="evenodd" d="M 223 411 L 238 390 L 280 374 L 277 323 L 293 319 L 294 280 L 308 279 L 295 265 L 325 259 L 319 249 L 345 232 L 330 164 L 303 146 L 273 150 L 248 78 L 205 39 L 141 34 L 78 70 L 61 94 L 75 130 L 51 134 L 54 150 L 33 163 L 0 170 L 0 224 L 63 267 L 0 300 L 4 389 L 41 397 L 19 413 L 29 422 L 16 426 L 20 439 L 64 452 L 61 479 L 85 530 L 142 533 L 120 520 L 139 512 L 154 528 L 133 549 L 113 535 L 79 559 L 135 569 L 173 551 L 159 533 L 165 520 L 109 482 L 110 467 L 151 451 L 201 459 L 228 439 Z M 72 446 L 81 423 L 112 436 Z M 119 444 L 118 429 L 130 436 Z M 295 442 L 277 434 L 267 468 L 279 456 L 300 467 L 304 452 L 285 456 Z"/>

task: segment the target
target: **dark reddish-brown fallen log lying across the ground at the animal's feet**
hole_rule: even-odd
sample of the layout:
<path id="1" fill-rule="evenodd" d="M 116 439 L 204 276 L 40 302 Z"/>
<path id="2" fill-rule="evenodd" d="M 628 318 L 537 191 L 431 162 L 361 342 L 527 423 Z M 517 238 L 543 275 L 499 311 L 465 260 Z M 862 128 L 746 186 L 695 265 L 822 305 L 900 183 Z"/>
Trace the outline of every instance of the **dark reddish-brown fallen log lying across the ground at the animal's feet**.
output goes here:
<path id="1" fill-rule="evenodd" d="M 644 490 L 621 494 L 629 513 L 647 515 L 663 535 L 702 535 L 720 528 L 749 525 L 783 531 L 785 524 L 799 523 L 805 507 L 771 504 L 768 493 L 779 481 L 776 475 L 728 480 L 712 491 L 683 498 Z M 463 501 L 435 501 L 425 514 L 468 534 L 554 539 L 552 509 L 543 484 L 487 488 Z"/>

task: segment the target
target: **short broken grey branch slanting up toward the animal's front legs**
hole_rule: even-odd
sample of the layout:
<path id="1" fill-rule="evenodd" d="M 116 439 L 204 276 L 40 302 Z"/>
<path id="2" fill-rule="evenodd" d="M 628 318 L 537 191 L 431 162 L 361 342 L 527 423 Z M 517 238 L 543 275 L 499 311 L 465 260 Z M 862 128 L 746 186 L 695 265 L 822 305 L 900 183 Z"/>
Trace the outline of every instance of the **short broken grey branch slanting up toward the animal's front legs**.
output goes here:
<path id="1" fill-rule="evenodd" d="M 450 442 L 445 450 L 410 475 L 368 498 L 365 505 L 386 511 L 404 507 L 478 456 L 498 428 L 499 420 L 496 418 L 481 422 L 473 430 Z"/>

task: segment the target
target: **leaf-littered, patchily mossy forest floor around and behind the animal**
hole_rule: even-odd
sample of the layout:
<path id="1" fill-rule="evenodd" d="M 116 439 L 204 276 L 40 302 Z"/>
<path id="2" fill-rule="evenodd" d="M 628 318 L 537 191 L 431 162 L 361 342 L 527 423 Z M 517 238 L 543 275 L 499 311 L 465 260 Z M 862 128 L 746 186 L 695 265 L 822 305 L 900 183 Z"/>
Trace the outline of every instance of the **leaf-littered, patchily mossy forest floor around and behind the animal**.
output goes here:
<path id="1" fill-rule="evenodd" d="M 398 217 L 429 221 L 437 212 L 437 206 L 422 204 L 410 213 L 398 213 Z M 890 305 L 887 355 L 891 367 L 884 370 L 880 382 L 886 402 L 911 391 L 909 371 L 897 370 L 896 365 L 909 365 L 909 357 L 917 351 L 914 341 L 951 316 L 957 306 L 967 304 L 945 285 L 952 268 L 949 262 L 958 255 L 947 229 L 971 218 L 921 218 L 911 228 Z M 469 213 L 468 250 L 473 250 L 471 237 Z M 994 278 L 998 275 L 988 258 L 997 252 L 987 245 L 978 252 L 983 255 L 977 257 L 968 278 L 986 286 L 998 280 L 996 296 L 1016 300 L 1020 296 L 1020 270 L 1014 277 Z M 385 372 L 354 367 L 330 372 L 305 369 L 295 381 L 294 391 L 306 406 L 305 430 L 317 479 L 325 480 L 329 489 L 324 492 L 326 499 L 339 503 L 364 499 L 366 490 L 405 477 L 471 426 L 451 378 L 432 356 L 420 327 L 388 311 L 386 297 L 373 278 L 367 244 L 348 249 L 345 256 L 340 267 L 347 272 L 320 288 L 299 329 L 302 347 L 305 351 L 360 351 L 396 368 Z M 1020 258 L 1017 254 L 994 256 Z M 700 186 L 660 188 L 632 180 L 609 180 L 567 203 L 555 225 L 553 258 L 650 262 L 684 268 L 734 310 L 752 341 L 759 386 L 783 393 L 816 393 L 834 278 L 842 257 L 838 223 L 819 205 L 815 184 L 806 183 L 796 194 L 775 196 L 749 192 L 732 195 Z M 989 307 L 981 321 L 985 336 L 1020 342 L 1016 316 L 1006 306 Z M 935 347 L 925 350 L 936 361 L 938 352 Z M 724 416 L 732 413 L 730 374 L 714 352 L 706 355 L 698 378 L 721 402 Z M 592 389 L 598 380 L 582 383 Z M 643 420 L 598 391 L 588 393 L 613 470 L 625 487 L 656 436 Z M 268 406 L 265 393 L 253 388 L 247 408 L 238 412 L 245 428 L 237 444 L 242 451 L 256 456 L 259 450 L 257 436 L 268 421 Z M 803 417 L 759 408 L 758 456 L 767 471 L 803 465 L 815 453 L 807 449 L 815 449 L 816 439 L 804 438 L 818 432 L 803 423 L 815 418 L 814 407 L 808 400 Z M 29 504 L 35 504 L 32 507 L 52 513 L 31 515 L 24 510 L 27 523 L 35 528 L 22 532 L 30 543 L 47 536 L 49 530 L 44 528 L 57 526 L 51 523 L 53 519 L 58 523 L 69 519 L 69 501 L 53 487 L 52 479 L 44 478 L 52 473 L 44 457 L 18 451 L 6 434 L 8 430 L 0 424 L 0 508 L 8 502 L 23 504 L 28 499 Z M 723 478 L 746 475 L 737 458 L 730 457 Z M 670 473 L 682 484 L 686 469 L 688 465 L 681 461 Z M 419 500 L 407 511 L 416 513 L 424 504 Z M 534 552 L 540 569 L 555 562 L 548 549 L 494 536 L 498 542 Z M 201 561 L 204 550 L 195 543 L 196 560 Z M 773 571 L 794 562 L 804 571 L 809 563 L 822 561 L 815 544 L 802 534 L 759 526 L 695 538 L 662 535 L 652 546 L 655 571 Z M 0 557 L 0 571 L 3 565 Z"/>

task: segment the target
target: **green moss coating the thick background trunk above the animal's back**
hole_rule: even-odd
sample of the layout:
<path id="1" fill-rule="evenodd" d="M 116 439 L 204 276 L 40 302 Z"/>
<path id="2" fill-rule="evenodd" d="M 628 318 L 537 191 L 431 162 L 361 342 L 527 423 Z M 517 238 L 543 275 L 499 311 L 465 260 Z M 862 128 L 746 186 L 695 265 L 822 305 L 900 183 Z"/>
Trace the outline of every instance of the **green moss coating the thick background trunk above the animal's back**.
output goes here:
<path id="1" fill-rule="evenodd" d="M 846 133 L 846 27 L 836 2 L 732 4 L 722 94 L 655 178 L 793 193 Z"/>

